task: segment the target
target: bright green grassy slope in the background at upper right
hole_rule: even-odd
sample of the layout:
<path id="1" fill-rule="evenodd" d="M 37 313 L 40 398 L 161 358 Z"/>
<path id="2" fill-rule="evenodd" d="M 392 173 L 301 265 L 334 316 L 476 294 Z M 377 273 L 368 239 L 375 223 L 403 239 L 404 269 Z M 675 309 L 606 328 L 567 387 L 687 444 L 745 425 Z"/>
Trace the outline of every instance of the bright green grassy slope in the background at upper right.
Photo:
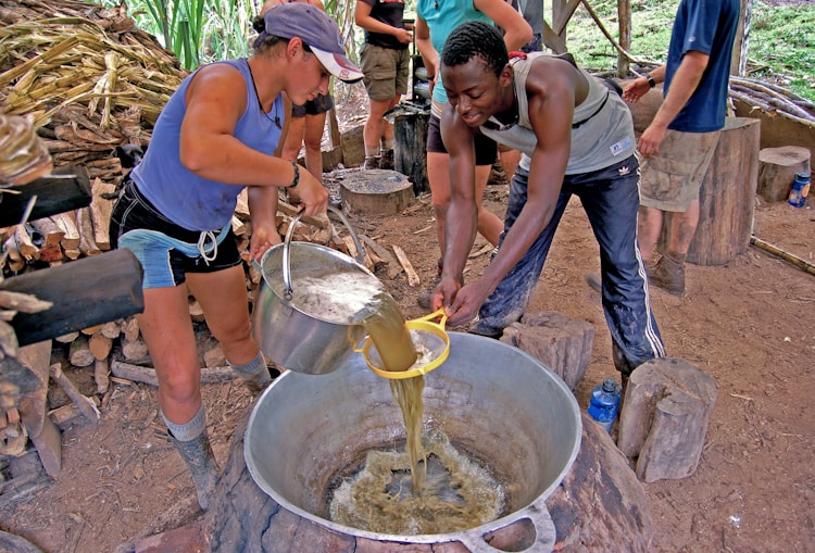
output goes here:
<path id="1" fill-rule="evenodd" d="M 616 0 L 590 2 L 603 26 L 619 37 Z M 632 0 L 630 53 L 638 60 L 665 61 L 678 0 Z M 614 72 L 617 51 L 584 7 L 566 30 L 569 52 L 581 65 Z M 755 1 L 751 17 L 748 75 L 774 80 L 815 101 L 815 4 L 769 5 Z"/>

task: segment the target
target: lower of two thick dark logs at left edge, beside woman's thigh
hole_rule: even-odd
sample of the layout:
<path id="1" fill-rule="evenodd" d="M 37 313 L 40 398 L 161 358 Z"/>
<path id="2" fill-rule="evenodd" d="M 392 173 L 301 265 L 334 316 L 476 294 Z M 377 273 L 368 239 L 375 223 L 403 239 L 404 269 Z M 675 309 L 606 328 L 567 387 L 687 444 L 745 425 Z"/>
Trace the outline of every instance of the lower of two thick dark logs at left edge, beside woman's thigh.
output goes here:
<path id="1" fill-rule="evenodd" d="M 21 345 L 115 321 L 145 309 L 141 265 L 129 250 L 115 250 L 5 279 L 1 290 L 30 293 L 53 306 L 18 313 L 11 325 Z"/>

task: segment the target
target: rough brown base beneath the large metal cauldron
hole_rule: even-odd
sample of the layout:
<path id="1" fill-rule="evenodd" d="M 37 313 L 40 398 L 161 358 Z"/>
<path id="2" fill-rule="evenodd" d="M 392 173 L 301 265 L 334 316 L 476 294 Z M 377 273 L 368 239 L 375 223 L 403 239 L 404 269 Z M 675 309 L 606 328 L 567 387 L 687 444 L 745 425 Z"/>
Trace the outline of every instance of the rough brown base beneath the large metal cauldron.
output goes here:
<path id="1" fill-rule="evenodd" d="M 312 553 L 466 553 L 460 542 L 399 543 L 344 535 L 296 515 L 277 504 L 252 480 L 243 458 L 250 410 L 233 436 L 229 457 L 205 515 L 211 551 Z M 580 451 L 557 489 L 547 500 L 563 552 L 651 550 L 653 530 L 644 488 L 611 437 L 582 414 Z M 528 520 L 496 530 L 485 539 L 499 551 L 534 544 Z"/>

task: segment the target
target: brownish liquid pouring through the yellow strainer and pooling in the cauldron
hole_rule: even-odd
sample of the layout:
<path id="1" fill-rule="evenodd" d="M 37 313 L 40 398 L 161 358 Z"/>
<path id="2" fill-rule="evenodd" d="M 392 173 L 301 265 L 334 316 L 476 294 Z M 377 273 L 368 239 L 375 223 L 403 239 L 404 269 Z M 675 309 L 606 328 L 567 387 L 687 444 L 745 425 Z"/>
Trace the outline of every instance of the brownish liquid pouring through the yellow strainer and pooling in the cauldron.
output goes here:
<path id="1" fill-rule="evenodd" d="M 378 368 L 396 373 L 438 356 L 427 337 L 409 329 L 387 292 L 360 318 Z M 414 334 L 415 332 L 415 334 Z M 359 472 L 333 492 L 330 518 L 364 530 L 419 535 L 473 528 L 494 520 L 504 493 L 488 469 L 468 458 L 439 430 L 425 437 L 424 375 L 388 379 L 405 428 L 405 451 L 368 450 Z"/>

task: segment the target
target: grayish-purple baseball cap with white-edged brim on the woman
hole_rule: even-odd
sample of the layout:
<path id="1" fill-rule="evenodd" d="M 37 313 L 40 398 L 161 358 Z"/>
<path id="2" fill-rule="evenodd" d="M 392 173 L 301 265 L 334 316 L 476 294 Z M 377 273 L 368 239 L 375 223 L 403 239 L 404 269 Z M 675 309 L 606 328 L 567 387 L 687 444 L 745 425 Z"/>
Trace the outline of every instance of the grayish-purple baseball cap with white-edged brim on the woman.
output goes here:
<path id="1" fill-rule="evenodd" d="M 331 75 L 346 83 L 363 78 L 360 68 L 346 55 L 337 24 L 323 10 L 304 2 L 275 5 L 263 14 L 266 35 L 300 39 L 309 45 L 319 63 Z M 258 40 L 263 39 L 263 33 Z"/>

